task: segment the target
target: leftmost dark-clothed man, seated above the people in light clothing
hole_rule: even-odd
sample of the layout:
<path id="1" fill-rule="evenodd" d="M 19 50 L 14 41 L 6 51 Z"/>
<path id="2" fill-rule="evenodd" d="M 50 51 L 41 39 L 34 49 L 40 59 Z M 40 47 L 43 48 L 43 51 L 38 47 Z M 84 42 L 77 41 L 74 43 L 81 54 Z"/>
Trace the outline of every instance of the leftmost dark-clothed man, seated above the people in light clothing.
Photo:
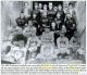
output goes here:
<path id="1" fill-rule="evenodd" d="M 16 24 L 18 27 L 21 27 L 22 29 L 25 27 L 25 18 L 24 18 L 24 13 L 21 12 L 20 17 L 16 18 Z"/>

